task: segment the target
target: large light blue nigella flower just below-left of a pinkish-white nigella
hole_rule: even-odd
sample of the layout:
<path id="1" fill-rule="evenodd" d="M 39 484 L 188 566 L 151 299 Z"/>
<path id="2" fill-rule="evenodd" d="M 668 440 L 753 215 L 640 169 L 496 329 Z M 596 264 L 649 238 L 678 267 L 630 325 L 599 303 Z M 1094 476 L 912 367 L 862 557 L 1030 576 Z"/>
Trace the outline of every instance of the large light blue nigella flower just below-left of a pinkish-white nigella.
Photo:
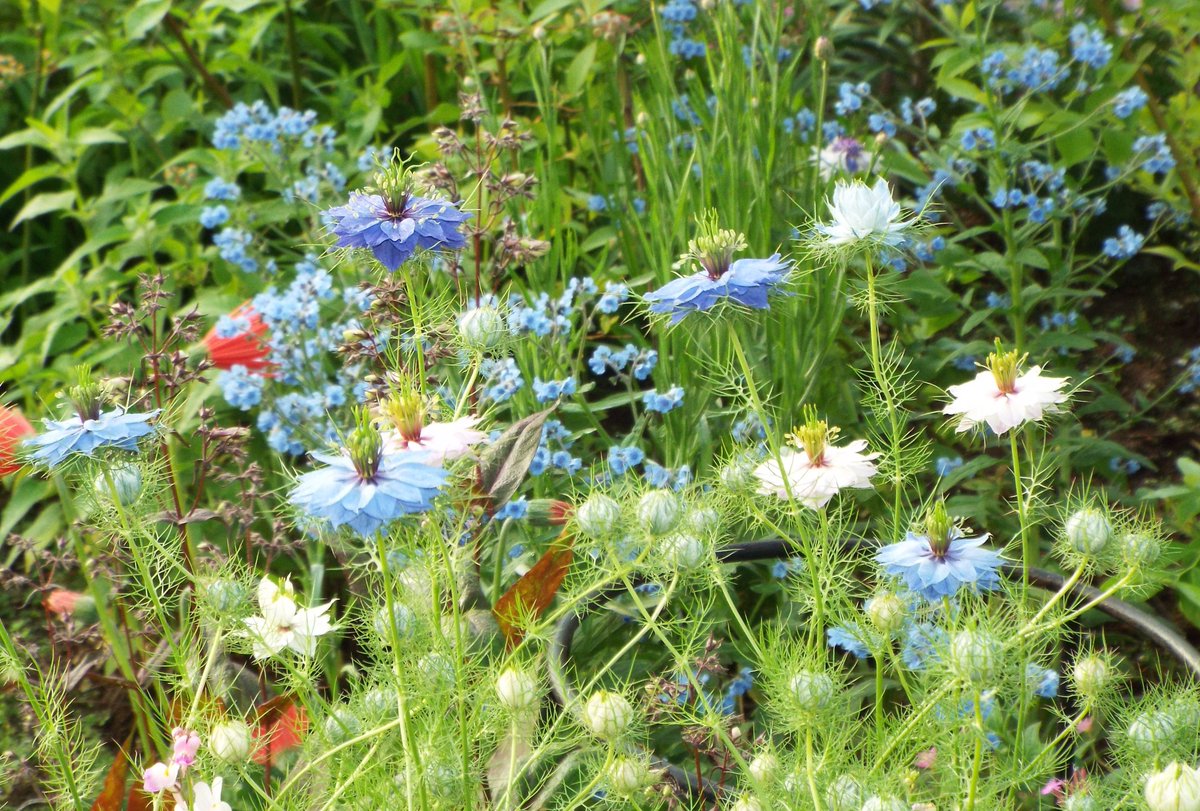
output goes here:
<path id="1" fill-rule="evenodd" d="M 371 535 L 401 516 L 425 512 L 446 482 L 446 471 L 427 464 L 421 451 L 385 453 L 379 432 L 361 421 L 348 453 L 313 453 L 326 467 L 304 474 L 288 497 L 335 529 Z"/>

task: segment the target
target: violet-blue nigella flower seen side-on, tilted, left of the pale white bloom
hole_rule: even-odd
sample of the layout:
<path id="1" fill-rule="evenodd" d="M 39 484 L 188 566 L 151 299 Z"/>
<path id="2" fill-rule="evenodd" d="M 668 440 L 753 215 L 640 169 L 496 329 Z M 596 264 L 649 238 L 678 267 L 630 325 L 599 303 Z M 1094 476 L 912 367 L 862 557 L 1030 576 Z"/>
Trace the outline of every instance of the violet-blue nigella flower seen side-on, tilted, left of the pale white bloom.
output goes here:
<path id="1" fill-rule="evenodd" d="M 646 294 L 652 313 L 671 316 L 678 324 L 690 312 L 712 310 L 719 304 L 737 304 L 754 310 L 769 310 L 768 296 L 787 278 L 791 265 L 774 253 L 767 259 L 738 259 L 733 252 L 746 247 L 745 239 L 722 230 L 713 212 L 700 220 L 701 234 L 688 245 L 683 260 L 700 270 L 673 278 L 658 290 Z"/>

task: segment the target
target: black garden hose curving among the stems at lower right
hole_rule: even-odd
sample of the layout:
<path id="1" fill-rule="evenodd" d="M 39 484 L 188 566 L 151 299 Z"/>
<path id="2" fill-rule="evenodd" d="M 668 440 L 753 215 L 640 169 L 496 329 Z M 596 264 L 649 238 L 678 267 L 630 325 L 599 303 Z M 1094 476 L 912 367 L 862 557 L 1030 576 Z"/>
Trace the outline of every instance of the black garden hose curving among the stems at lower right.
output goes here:
<path id="1" fill-rule="evenodd" d="M 716 558 L 721 563 L 779 560 L 791 558 L 794 554 L 794 545 L 780 539 L 731 543 L 716 551 Z M 1015 564 L 1006 564 L 1002 571 L 1009 577 L 1019 577 L 1021 567 Z M 1067 578 L 1044 569 L 1031 569 L 1030 583 L 1048 591 L 1057 591 L 1067 583 Z M 625 594 L 625 591 L 624 585 L 611 585 L 600 589 L 584 600 L 578 611 L 559 620 L 558 626 L 554 629 L 554 636 L 550 641 L 547 663 L 551 691 L 554 701 L 559 704 L 565 707 L 575 701 L 578 695 L 566 675 L 566 665 L 571 657 L 571 644 L 575 641 L 576 631 L 580 630 L 583 619 L 589 613 Z M 1067 593 L 1081 601 L 1097 600 L 1102 594 L 1099 589 L 1081 583 L 1074 583 Z M 1200 679 L 1200 651 L 1169 624 L 1150 612 L 1116 597 L 1100 600 L 1097 602 L 1096 609 L 1139 631 L 1145 638 L 1154 642 L 1154 644 L 1171 654 L 1192 675 Z M 665 769 L 689 794 L 701 794 L 706 799 L 715 799 L 716 789 L 708 781 L 698 781 L 695 774 L 685 771 L 664 758 L 654 757 L 653 764 L 655 768 Z"/>

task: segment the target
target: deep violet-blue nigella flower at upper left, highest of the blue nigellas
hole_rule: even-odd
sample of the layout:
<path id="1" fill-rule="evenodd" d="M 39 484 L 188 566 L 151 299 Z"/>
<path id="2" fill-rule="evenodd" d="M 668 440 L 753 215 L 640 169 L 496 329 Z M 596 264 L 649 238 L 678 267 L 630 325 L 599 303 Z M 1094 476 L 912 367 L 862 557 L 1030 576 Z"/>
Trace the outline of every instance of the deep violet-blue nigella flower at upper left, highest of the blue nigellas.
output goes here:
<path id="1" fill-rule="evenodd" d="M 378 193 L 354 192 L 346 205 L 326 211 L 337 247 L 370 248 L 388 270 L 408 262 L 418 248 L 456 251 L 467 245 L 458 227 L 472 215 L 454 203 L 420 197 L 398 154 L 376 175 Z"/>

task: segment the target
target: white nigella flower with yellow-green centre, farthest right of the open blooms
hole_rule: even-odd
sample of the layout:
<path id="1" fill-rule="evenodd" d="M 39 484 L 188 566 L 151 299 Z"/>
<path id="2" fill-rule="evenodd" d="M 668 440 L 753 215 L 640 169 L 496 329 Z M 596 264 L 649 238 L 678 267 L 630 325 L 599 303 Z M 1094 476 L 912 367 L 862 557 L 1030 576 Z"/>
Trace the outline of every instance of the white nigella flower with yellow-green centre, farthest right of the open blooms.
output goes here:
<path id="1" fill-rule="evenodd" d="M 1001 352 L 997 342 L 996 352 L 988 355 L 988 368 L 973 380 L 950 386 L 954 402 L 942 413 L 960 417 L 958 433 L 986 423 L 1000 435 L 1058 411 L 1058 404 L 1067 402 L 1067 394 L 1062 391 L 1067 378 L 1042 377 L 1040 366 L 1021 373 L 1024 360 L 1025 356 L 1018 356 L 1015 350 Z"/>

